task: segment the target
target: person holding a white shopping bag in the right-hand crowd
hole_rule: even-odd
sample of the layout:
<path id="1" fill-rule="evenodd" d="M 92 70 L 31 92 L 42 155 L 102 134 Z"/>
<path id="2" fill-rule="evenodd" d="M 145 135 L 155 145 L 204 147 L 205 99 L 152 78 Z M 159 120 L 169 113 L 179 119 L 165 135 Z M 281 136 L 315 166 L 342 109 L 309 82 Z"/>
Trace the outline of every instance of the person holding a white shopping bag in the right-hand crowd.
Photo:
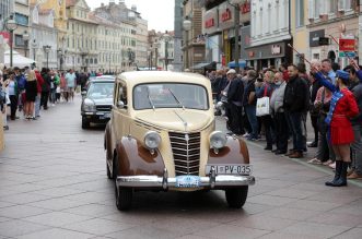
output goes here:
<path id="1" fill-rule="evenodd" d="M 264 74 L 264 82 L 261 83 L 261 86 L 258 87 L 256 85 L 256 96 L 257 98 L 262 98 L 262 97 L 271 97 L 272 92 L 273 92 L 273 81 L 275 81 L 275 73 L 270 70 L 266 71 Z M 266 151 L 272 151 L 272 143 L 273 143 L 273 121 L 271 118 L 271 115 L 266 115 L 260 117 L 261 123 L 264 124 L 265 128 L 265 133 L 266 133 L 266 140 L 267 140 L 267 145 L 264 150 Z"/>

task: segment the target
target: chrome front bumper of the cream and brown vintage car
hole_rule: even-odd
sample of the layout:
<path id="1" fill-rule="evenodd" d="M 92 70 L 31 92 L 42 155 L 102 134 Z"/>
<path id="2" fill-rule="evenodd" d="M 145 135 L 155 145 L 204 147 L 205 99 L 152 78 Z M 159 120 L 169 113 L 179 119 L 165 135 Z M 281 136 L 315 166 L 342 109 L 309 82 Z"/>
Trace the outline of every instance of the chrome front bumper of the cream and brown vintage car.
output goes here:
<path id="1" fill-rule="evenodd" d="M 176 187 L 176 178 L 168 178 L 167 171 L 164 171 L 163 177 L 159 176 L 118 176 L 116 179 L 117 187 L 122 188 L 150 188 L 163 189 Z M 238 186 L 254 186 L 254 176 L 242 175 L 215 175 L 214 170 L 209 177 L 200 177 L 199 188 L 222 188 L 222 187 L 238 187 Z"/>

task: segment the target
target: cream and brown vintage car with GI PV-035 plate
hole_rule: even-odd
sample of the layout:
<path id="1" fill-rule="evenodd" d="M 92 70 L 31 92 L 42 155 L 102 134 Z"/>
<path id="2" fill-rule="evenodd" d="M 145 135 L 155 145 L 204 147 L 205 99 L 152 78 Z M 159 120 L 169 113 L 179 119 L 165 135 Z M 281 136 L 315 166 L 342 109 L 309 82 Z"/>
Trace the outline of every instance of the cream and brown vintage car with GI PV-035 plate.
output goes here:
<path id="1" fill-rule="evenodd" d="M 132 193 L 225 190 L 240 208 L 255 183 L 246 143 L 215 131 L 210 81 L 194 73 L 126 72 L 116 77 L 105 129 L 107 176 L 118 210 Z"/>

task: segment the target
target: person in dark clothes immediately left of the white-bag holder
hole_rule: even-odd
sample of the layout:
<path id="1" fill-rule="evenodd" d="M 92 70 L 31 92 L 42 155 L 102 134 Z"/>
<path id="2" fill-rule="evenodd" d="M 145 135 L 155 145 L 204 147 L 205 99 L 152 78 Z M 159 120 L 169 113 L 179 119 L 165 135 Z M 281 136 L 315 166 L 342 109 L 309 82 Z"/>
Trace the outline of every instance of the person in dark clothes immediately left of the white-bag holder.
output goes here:
<path id="1" fill-rule="evenodd" d="M 255 82 L 257 79 L 257 73 L 255 70 L 249 70 L 247 72 L 247 83 L 243 96 L 243 107 L 245 109 L 247 119 L 252 127 L 252 131 L 247 140 L 257 141 L 258 135 L 258 120 L 256 117 L 256 95 L 255 95 Z"/>

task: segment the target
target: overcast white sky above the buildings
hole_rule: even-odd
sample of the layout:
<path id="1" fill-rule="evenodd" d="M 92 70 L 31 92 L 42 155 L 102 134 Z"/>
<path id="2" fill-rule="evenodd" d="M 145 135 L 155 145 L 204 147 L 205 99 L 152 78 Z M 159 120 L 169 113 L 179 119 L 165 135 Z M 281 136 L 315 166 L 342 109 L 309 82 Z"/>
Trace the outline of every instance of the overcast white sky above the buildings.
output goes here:
<path id="1" fill-rule="evenodd" d="M 108 4 L 109 0 L 85 0 L 93 10 L 101 7 L 101 3 Z M 115 0 L 118 3 L 118 0 Z M 126 5 L 130 9 L 132 4 L 141 13 L 142 19 L 149 22 L 149 29 L 160 32 L 174 29 L 174 0 L 126 0 Z"/>

